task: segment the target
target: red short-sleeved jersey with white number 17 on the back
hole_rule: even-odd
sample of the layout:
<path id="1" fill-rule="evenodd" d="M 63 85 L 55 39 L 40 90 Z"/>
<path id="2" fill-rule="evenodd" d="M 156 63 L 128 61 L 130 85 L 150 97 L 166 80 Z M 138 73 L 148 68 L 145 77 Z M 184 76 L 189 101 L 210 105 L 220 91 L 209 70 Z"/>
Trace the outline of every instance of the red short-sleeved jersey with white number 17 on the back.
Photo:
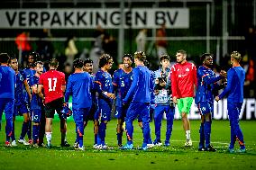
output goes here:
<path id="1" fill-rule="evenodd" d="M 64 96 L 62 85 L 66 85 L 65 75 L 57 70 L 41 74 L 39 84 L 43 86 L 45 103 L 50 103 Z"/>

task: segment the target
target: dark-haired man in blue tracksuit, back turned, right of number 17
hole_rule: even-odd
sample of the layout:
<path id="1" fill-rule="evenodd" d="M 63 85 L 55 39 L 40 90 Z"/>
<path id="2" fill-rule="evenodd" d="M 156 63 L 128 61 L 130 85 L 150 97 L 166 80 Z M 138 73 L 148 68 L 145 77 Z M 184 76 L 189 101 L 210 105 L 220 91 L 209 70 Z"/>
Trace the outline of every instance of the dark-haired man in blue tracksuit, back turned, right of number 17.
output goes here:
<path id="1" fill-rule="evenodd" d="M 68 85 L 65 94 L 65 104 L 69 104 L 69 95 L 72 95 L 72 110 L 74 121 L 76 122 L 76 132 L 78 149 L 84 148 L 84 122 L 87 119 L 88 113 L 92 106 L 93 81 L 91 76 L 83 71 L 84 62 L 77 58 L 74 60 L 74 74 L 69 76 Z"/>

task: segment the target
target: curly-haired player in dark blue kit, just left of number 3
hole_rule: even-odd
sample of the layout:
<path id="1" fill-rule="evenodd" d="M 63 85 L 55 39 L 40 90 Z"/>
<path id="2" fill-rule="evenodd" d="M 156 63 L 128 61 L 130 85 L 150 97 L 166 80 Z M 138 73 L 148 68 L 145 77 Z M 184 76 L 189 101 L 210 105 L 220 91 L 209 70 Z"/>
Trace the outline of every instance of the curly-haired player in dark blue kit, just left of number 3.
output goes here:
<path id="1" fill-rule="evenodd" d="M 113 99 L 115 99 L 115 95 L 113 94 L 112 77 L 108 73 L 108 70 L 112 67 L 112 65 L 113 58 L 108 54 L 103 54 L 99 58 L 98 67 L 100 69 L 97 71 L 95 79 L 96 89 L 99 94 L 99 115 L 96 115 L 96 119 L 100 120 L 96 145 L 96 148 L 99 149 L 107 148 L 105 145 L 105 130 L 107 122 L 111 119 L 112 103 Z"/>

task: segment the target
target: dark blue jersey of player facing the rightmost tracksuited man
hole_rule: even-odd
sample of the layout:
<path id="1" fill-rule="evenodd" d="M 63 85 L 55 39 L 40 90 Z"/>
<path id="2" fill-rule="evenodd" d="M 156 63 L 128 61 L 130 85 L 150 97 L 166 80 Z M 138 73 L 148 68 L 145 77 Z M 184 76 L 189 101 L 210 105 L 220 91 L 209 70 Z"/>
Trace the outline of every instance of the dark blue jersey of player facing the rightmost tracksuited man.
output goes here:
<path id="1" fill-rule="evenodd" d="M 195 103 L 209 102 L 214 103 L 213 92 L 218 87 L 217 81 L 223 76 L 216 76 L 211 68 L 200 66 L 197 69 L 197 94 Z"/>

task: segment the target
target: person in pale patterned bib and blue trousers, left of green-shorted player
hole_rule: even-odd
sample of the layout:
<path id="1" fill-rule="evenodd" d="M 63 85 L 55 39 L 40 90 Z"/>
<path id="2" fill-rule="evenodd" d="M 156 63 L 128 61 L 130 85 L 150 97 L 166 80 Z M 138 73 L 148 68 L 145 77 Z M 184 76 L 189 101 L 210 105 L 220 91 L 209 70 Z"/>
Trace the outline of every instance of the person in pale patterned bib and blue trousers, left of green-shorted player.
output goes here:
<path id="1" fill-rule="evenodd" d="M 160 140 L 160 127 L 163 117 L 163 113 L 166 113 L 166 139 L 164 145 L 169 147 L 169 139 L 171 136 L 175 105 L 172 102 L 171 96 L 171 82 L 170 82 L 170 69 L 169 69 L 169 56 L 162 55 L 160 57 L 160 69 L 155 71 L 155 112 L 154 112 L 154 123 L 155 123 L 155 135 L 154 145 L 161 146 Z"/>

